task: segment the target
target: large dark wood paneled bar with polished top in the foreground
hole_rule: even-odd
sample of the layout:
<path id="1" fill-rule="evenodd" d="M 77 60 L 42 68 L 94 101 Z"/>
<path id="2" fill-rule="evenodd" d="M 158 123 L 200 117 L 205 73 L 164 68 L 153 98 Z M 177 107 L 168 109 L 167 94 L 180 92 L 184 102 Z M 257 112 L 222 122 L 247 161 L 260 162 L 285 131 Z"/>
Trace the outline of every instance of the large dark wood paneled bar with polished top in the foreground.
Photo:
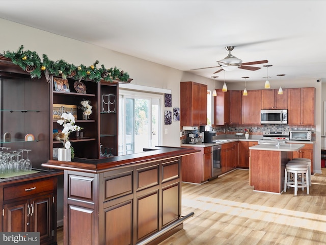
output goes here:
<path id="1" fill-rule="evenodd" d="M 64 244 L 157 244 L 182 229 L 181 156 L 196 152 L 156 146 L 42 164 L 64 170 Z"/>

